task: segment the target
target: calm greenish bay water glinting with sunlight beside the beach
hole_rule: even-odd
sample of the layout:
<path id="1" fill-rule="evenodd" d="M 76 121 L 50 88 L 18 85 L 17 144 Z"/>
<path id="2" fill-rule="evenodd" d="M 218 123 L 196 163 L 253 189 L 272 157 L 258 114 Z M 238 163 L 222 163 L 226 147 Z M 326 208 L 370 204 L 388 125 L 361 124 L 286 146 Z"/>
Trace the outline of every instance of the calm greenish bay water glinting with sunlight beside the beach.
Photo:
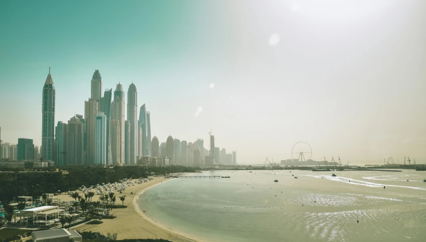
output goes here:
<path id="1" fill-rule="evenodd" d="M 138 203 L 207 241 L 426 241 L 426 172 L 335 173 L 203 172 L 231 178 L 175 178 Z"/>

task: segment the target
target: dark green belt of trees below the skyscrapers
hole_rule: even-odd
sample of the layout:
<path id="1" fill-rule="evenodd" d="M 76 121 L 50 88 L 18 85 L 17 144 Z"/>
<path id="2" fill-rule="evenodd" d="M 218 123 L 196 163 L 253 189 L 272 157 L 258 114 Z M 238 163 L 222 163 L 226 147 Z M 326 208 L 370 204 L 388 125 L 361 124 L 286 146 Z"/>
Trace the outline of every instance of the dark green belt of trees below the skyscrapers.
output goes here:
<path id="1" fill-rule="evenodd" d="M 40 198 L 44 193 L 55 193 L 57 190 L 74 191 L 82 185 L 118 182 L 120 179 L 131 177 L 147 177 L 151 173 L 195 172 L 194 168 L 185 166 L 116 166 L 113 168 L 70 166 L 60 167 L 59 169 L 66 170 L 69 174 L 62 175 L 60 172 L 18 172 L 22 169 L 2 168 L 2 171 L 15 172 L 3 173 L 0 176 L 0 201 L 3 201 L 3 204 L 7 204 L 18 196 L 32 196 L 36 199 Z M 74 199 L 77 200 L 77 198 Z"/>

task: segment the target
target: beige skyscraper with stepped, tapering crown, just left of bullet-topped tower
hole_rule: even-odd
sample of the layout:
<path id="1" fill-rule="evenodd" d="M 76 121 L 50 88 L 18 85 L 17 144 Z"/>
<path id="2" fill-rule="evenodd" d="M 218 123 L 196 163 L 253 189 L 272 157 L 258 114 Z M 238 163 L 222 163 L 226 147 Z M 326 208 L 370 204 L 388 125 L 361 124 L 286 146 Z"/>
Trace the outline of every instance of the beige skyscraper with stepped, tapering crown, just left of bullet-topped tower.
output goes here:
<path id="1" fill-rule="evenodd" d="M 124 165 L 125 161 L 125 94 L 123 86 L 117 84 L 111 103 L 111 150 L 113 165 Z"/>

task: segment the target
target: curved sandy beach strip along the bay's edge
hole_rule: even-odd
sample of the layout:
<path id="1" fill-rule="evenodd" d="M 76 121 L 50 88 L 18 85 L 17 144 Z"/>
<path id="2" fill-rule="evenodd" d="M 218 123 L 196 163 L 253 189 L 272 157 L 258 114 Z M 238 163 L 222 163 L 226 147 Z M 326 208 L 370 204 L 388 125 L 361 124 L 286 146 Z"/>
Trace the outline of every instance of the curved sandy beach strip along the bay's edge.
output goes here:
<path id="1" fill-rule="evenodd" d="M 154 185 L 161 185 L 161 182 L 170 180 L 170 178 L 156 177 L 149 182 L 142 184 L 135 184 L 135 186 L 127 187 L 123 193 L 116 192 L 117 200 L 116 204 L 122 203 L 119 196 L 126 195 L 124 205 L 127 208 L 117 208 L 110 211 L 110 214 L 114 214 L 114 219 L 102 219 L 101 224 L 88 225 L 82 224 L 73 227 L 80 231 L 92 231 L 99 232 L 102 234 L 117 233 L 118 239 L 125 238 L 163 238 L 171 241 L 201 241 L 200 239 L 193 238 L 189 235 L 184 235 L 174 230 L 164 227 L 148 218 L 138 207 L 136 201 L 139 194 L 142 194 L 147 188 Z M 137 181 L 136 179 L 133 181 Z M 133 192 L 133 195 L 131 194 Z M 83 192 L 79 192 L 82 194 Z M 70 195 L 59 195 L 62 201 L 73 201 L 74 199 Z M 95 195 L 92 201 L 97 201 L 99 195 Z M 149 211 L 148 211 L 149 212 Z"/>

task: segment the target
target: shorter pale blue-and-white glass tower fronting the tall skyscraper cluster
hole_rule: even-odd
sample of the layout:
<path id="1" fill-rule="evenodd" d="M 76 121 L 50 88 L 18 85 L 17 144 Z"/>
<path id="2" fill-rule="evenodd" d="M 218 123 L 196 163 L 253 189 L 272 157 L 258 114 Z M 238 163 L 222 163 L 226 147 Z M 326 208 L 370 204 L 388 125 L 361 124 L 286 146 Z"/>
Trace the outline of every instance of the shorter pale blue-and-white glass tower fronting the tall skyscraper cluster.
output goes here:
<path id="1" fill-rule="evenodd" d="M 94 164 L 107 165 L 107 116 L 98 112 L 94 124 Z"/>

